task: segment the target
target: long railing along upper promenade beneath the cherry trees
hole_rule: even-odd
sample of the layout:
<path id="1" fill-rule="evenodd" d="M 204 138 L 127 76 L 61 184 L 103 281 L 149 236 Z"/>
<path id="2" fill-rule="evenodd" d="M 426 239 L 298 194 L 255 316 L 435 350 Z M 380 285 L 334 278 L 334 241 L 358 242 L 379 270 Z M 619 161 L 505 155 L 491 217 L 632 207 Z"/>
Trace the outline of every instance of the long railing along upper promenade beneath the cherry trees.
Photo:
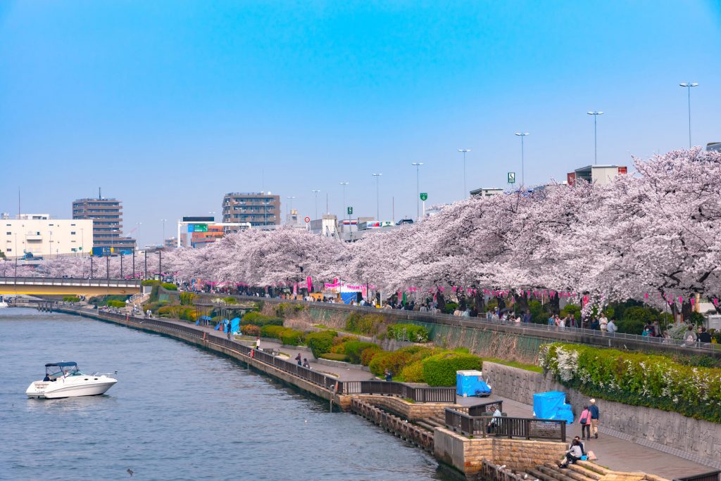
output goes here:
<path id="1" fill-rule="evenodd" d="M 253 296 L 236 296 L 243 300 L 255 300 L 256 302 L 289 302 L 294 304 L 303 304 L 309 307 L 317 307 L 326 310 L 337 310 L 342 312 L 358 312 L 359 310 L 367 313 L 376 313 L 388 315 L 400 320 L 415 320 L 422 323 L 436 323 L 446 325 L 456 325 L 464 328 L 490 327 L 503 328 L 503 331 L 522 333 L 526 335 L 544 336 L 559 340 L 572 340 L 585 343 L 593 343 L 596 345 L 610 346 L 616 344 L 621 346 L 624 343 L 639 343 L 641 346 L 647 347 L 668 347 L 668 348 L 692 348 L 702 351 L 721 352 L 721 343 L 687 343 L 680 339 L 658 338 L 653 336 L 637 336 L 636 334 L 624 333 L 608 333 L 605 331 L 596 331 L 595 329 L 560 327 L 548 324 L 536 323 L 510 323 L 501 320 L 492 320 L 485 317 L 467 318 L 451 314 L 443 313 L 421 313 L 415 310 L 397 310 L 397 309 L 378 309 L 371 306 L 352 306 L 345 304 L 331 304 L 329 302 L 308 302 L 301 300 L 286 300 L 274 297 L 253 297 Z"/>

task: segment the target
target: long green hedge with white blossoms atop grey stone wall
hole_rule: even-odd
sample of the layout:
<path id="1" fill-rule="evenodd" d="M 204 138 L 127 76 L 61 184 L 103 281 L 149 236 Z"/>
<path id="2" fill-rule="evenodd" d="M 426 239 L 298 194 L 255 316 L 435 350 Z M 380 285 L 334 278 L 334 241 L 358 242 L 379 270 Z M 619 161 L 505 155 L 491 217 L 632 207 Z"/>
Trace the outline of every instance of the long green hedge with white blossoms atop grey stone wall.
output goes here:
<path id="1" fill-rule="evenodd" d="M 575 344 L 541 346 L 541 367 L 589 397 L 721 422 L 721 370 L 666 356 Z"/>

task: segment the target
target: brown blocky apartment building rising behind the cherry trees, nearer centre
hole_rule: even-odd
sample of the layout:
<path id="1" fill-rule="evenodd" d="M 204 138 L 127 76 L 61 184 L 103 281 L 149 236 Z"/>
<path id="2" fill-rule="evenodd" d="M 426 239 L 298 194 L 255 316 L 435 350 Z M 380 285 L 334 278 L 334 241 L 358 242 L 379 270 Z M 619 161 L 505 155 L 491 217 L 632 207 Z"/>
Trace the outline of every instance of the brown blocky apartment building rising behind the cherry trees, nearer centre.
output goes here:
<path id="1" fill-rule="evenodd" d="M 223 222 L 252 226 L 280 224 L 280 196 L 270 192 L 229 192 L 223 197 Z"/>

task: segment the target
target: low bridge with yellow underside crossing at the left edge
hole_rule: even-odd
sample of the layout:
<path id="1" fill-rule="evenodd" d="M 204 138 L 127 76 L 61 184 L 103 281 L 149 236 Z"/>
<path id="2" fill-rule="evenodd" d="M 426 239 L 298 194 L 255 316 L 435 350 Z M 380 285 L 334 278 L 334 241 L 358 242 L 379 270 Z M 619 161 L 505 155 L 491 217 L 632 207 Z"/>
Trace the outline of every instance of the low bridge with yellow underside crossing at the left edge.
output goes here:
<path id="1" fill-rule="evenodd" d="M 67 277 L 0 277 L 0 295 L 133 295 L 134 279 L 70 279 Z"/>

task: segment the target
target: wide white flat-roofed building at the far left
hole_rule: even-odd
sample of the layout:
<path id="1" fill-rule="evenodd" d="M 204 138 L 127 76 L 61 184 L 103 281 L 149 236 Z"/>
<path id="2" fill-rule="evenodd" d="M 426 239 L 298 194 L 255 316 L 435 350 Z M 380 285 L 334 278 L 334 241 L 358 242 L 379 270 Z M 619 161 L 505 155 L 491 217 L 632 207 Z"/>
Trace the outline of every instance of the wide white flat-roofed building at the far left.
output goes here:
<path id="1" fill-rule="evenodd" d="M 50 219 L 31 214 L 21 217 L 0 220 L 0 251 L 7 259 L 27 253 L 43 259 L 92 253 L 92 220 Z"/>

